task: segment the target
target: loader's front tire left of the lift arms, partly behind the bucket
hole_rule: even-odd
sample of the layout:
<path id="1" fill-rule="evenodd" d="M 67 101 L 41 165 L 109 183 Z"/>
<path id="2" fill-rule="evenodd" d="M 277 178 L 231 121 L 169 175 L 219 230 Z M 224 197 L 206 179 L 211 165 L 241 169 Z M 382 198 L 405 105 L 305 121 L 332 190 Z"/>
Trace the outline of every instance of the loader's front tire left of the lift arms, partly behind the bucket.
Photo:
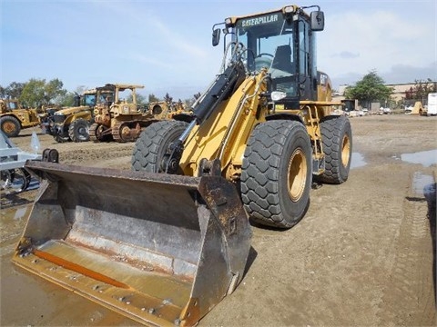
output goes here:
<path id="1" fill-rule="evenodd" d="M 161 162 L 168 145 L 178 140 L 188 124 L 179 121 L 161 121 L 150 124 L 139 135 L 132 154 L 132 170 L 164 173 Z"/>

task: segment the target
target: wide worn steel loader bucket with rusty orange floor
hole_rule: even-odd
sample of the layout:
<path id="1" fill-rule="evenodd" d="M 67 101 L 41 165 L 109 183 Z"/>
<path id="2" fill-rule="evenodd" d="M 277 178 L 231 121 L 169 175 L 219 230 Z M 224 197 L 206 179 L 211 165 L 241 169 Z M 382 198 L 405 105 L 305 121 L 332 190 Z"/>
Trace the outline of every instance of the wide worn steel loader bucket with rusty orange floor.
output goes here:
<path id="1" fill-rule="evenodd" d="M 241 281 L 251 230 L 235 186 L 27 162 L 44 181 L 13 262 L 147 325 L 188 326 Z"/>

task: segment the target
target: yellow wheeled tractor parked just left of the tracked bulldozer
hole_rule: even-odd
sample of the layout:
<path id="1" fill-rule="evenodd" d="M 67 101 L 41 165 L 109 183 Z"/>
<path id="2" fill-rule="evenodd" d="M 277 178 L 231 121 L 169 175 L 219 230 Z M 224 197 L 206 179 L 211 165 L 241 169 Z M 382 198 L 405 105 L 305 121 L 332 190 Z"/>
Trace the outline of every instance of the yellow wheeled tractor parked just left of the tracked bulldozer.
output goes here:
<path id="1" fill-rule="evenodd" d="M 97 92 L 97 89 L 86 90 L 83 94 L 76 94 L 75 104 L 61 110 L 47 110 L 42 119 L 43 133 L 53 135 L 56 142 L 64 143 L 86 142 L 89 140 L 89 126 L 94 122 L 94 108 L 103 103 L 107 96 L 114 96 L 110 90 Z"/>

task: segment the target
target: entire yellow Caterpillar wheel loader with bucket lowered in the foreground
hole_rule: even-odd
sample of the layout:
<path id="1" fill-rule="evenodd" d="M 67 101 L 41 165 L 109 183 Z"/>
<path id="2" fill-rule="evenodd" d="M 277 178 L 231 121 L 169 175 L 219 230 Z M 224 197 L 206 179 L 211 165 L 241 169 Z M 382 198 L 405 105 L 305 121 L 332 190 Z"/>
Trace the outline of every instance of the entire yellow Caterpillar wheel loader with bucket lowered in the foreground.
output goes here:
<path id="1" fill-rule="evenodd" d="M 305 9 L 316 7 L 307 14 Z M 249 219 L 287 229 L 313 177 L 343 183 L 351 124 L 317 71 L 318 6 L 229 17 L 224 59 L 192 114 L 151 124 L 132 171 L 45 161 L 14 262 L 149 325 L 195 325 L 244 277 Z"/>

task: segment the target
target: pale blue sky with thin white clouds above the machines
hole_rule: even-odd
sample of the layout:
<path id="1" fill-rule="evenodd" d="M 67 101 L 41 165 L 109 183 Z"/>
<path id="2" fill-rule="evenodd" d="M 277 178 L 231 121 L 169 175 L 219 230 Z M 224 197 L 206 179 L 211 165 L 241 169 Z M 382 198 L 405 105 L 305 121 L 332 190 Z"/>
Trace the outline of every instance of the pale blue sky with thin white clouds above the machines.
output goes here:
<path id="1" fill-rule="evenodd" d="M 388 84 L 437 80 L 437 7 L 418 1 L 0 0 L 0 85 L 59 78 L 68 91 L 144 84 L 184 100 L 221 63 L 212 25 L 284 5 L 320 5 L 318 66 L 334 88 L 376 70 Z"/>

